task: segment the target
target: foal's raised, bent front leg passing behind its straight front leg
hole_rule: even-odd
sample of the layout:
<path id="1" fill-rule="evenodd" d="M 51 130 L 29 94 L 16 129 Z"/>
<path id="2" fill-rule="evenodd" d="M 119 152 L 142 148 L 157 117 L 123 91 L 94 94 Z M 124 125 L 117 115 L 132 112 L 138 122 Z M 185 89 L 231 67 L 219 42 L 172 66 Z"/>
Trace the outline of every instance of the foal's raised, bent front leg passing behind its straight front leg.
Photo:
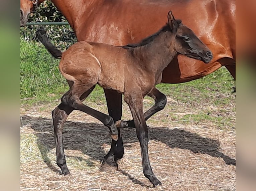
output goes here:
<path id="1" fill-rule="evenodd" d="M 166 105 L 166 96 L 156 88 L 154 88 L 148 94 L 148 96 L 152 97 L 155 100 L 155 104 L 144 113 L 146 120 L 148 120 L 156 112 L 162 110 Z M 129 120 L 129 121 L 119 120 L 116 122 L 116 127 L 120 127 L 120 128 L 135 127 L 134 120 Z"/>

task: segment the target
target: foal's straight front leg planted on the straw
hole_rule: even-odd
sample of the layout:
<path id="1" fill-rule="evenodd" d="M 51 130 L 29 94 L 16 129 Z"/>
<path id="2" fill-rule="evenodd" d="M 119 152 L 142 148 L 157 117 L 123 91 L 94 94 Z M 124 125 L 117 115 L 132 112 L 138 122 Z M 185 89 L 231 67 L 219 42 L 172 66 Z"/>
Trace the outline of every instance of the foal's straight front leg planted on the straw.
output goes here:
<path id="1" fill-rule="evenodd" d="M 129 105 L 134 124 L 136 127 L 137 137 L 140 142 L 143 173 L 145 177 L 155 186 L 161 185 L 161 182 L 154 175 L 148 156 L 148 128 L 143 113 L 142 95 L 135 92 L 133 94 L 125 94 L 124 100 Z"/>

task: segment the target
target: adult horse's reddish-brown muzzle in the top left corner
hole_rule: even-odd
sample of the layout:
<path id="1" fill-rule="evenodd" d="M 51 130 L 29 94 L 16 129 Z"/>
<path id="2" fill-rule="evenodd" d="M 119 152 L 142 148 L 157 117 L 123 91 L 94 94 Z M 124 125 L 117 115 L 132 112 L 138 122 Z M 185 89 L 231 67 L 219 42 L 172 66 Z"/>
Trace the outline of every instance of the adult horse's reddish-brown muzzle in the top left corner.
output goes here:
<path id="1" fill-rule="evenodd" d="M 27 24 L 28 17 L 42 0 L 20 0 L 20 26 Z"/>

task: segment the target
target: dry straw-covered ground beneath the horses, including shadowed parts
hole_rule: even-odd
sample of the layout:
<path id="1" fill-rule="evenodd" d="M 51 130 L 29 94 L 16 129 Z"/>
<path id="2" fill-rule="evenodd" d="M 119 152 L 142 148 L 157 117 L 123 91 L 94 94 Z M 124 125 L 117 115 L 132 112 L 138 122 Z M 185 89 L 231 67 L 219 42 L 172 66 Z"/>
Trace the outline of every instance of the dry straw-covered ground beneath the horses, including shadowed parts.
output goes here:
<path id="1" fill-rule="evenodd" d="M 135 129 L 122 130 L 125 154 L 119 171 L 101 172 L 110 149 L 108 128 L 97 119 L 74 111 L 65 123 L 63 142 L 71 176 L 59 175 L 50 111 L 59 103 L 21 105 L 21 190 L 235 190 L 235 98 L 218 108 L 206 100 L 180 103 L 168 97 L 166 108 L 148 120 L 149 157 L 163 183 L 152 188 L 142 172 Z M 204 102 L 205 101 L 205 102 Z M 145 99 L 144 109 L 152 105 Z M 107 113 L 105 104 L 88 105 Z M 210 118 L 196 118 L 208 112 Z M 224 116 L 227 121 L 218 121 Z M 123 119 L 131 115 L 126 104 Z"/>

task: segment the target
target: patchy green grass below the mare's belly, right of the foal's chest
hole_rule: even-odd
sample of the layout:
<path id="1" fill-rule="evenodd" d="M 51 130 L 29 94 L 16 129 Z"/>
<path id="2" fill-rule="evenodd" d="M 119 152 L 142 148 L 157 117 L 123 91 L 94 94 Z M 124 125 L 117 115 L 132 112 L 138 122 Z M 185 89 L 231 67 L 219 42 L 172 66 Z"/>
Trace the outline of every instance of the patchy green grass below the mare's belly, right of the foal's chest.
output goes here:
<path id="1" fill-rule="evenodd" d="M 235 86 L 233 77 L 224 67 L 214 73 L 198 80 L 193 80 L 181 84 L 159 84 L 156 87 L 165 95 L 174 97 L 175 100 L 181 102 L 200 102 L 213 99 L 216 93 L 227 94 L 232 93 L 232 87 Z M 229 102 L 229 98 L 225 96 L 217 97 L 214 100 L 215 105 Z"/>

